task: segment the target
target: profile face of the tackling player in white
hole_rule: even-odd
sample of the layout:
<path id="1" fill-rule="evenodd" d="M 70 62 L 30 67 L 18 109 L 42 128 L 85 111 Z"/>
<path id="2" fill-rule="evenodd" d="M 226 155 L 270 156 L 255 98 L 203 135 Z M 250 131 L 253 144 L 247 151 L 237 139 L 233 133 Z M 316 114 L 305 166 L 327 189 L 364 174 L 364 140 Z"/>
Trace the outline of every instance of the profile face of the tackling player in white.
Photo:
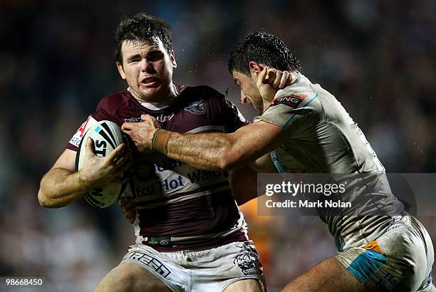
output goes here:
<path id="1" fill-rule="evenodd" d="M 263 113 L 264 103 L 254 80 L 238 71 L 233 71 L 232 75 L 234 83 L 241 89 L 241 103 L 249 103 L 259 110 L 259 113 Z"/>

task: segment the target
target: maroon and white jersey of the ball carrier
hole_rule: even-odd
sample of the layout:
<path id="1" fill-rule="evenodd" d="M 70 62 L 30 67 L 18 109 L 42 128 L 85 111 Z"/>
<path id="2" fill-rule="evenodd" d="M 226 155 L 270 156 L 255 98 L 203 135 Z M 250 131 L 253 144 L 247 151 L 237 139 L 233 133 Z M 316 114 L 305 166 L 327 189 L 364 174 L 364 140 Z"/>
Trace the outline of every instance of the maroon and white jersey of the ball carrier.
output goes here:
<path id="1" fill-rule="evenodd" d="M 155 117 L 163 129 L 180 133 L 234 132 L 247 124 L 216 90 L 175 88 L 174 102 L 157 110 L 145 108 L 129 91 L 102 98 L 67 148 L 77 151 L 85 131 L 96 121 L 110 120 L 121 126 L 140 122 L 143 114 Z M 134 224 L 138 243 L 170 236 L 169 247 L 155 247 L 168 251 L 247 240 L 246 223 L 232 196 L 227 172 L 197 170 L 156 152 L 133 158 L 125 196 L 133 197 L 138 207 Z"/>

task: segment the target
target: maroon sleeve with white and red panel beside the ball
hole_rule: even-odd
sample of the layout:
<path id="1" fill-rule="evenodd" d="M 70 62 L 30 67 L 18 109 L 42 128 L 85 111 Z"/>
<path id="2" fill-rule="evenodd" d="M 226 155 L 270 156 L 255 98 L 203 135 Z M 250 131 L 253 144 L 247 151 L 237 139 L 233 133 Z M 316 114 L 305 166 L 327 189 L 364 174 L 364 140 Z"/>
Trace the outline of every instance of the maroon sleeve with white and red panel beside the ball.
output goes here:
<path id="1" fill-rule="evenodd" d="M 110 115 L 110 113 L 108 113 L 108 110 L 106 110 L 106 103 L 106 100 L 100 100 L 100 103 L 98 103 L 97 108 L 95 109 L 95 113 L 89 115 L 89 117 L 85 120 L 85 122 L 83 122 L 81 127 L 78 128 L 73 137 L 71 137 L 71 140 L 68 141 L 66 149 L 77 152 L 78 146 L 81 144 L 83 135 L 85 135 L 85 132 L 90 127 L 95 125 L 96 122 L 100 120 L 110 120 L 115 122 L 113 115 Z"/>

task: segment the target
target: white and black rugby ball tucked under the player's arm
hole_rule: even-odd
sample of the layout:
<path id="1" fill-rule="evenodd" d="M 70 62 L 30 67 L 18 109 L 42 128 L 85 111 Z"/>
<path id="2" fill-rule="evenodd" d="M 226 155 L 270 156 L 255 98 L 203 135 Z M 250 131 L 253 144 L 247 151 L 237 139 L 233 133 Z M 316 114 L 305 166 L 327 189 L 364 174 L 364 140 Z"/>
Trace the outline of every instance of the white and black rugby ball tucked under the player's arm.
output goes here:
<path id="1" fill-rule="evenodd" d="M 101 120 L 92 125 L 83 135 L 81 144 L 76 154 L 76 170 L 82 170 L 85 162 L 86 147 L 85 142 L 91 137 L 94 142 L 94 153 L 98 157 L 105 157 L 110 152 L 123 143 L 121 128 L 115 122 Z M 86 202 L 96 208 L 106 208 L 115 203 L 124 192 L 126 184 L 111 184 L 107 187 L 97 187 L 91 192 L 86 193 Z"/>

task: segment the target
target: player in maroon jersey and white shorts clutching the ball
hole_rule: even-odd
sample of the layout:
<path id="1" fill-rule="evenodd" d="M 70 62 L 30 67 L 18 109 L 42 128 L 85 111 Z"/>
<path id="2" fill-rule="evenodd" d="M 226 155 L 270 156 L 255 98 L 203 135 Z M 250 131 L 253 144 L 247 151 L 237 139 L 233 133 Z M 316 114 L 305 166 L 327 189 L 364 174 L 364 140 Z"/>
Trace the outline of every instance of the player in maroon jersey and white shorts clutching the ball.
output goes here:
<path id="1" fill-rule="evenodd" d="M 78 145 L 98 120 L 118 125 L 150 115 L 155 125 L 182 132 L 234 132 L 246 125 L 237 108 L 207 86 L 176 86 L 169 26 L 137 14 L 116 31 L 115 59 L 128 90 L 105 96 L 41 179 L 43 207 L 70 204 L 95 187 L 120 182 L 133 200 L 136 242 L 96 291 L 262 291 L 259 254 L 232 196 L 227 172 L 208 172 L 151 152 L 118 146 L 108 157 L 91 155 L 75 170 Z M 92 140 L 84 141 L 92 152 Z"/>

